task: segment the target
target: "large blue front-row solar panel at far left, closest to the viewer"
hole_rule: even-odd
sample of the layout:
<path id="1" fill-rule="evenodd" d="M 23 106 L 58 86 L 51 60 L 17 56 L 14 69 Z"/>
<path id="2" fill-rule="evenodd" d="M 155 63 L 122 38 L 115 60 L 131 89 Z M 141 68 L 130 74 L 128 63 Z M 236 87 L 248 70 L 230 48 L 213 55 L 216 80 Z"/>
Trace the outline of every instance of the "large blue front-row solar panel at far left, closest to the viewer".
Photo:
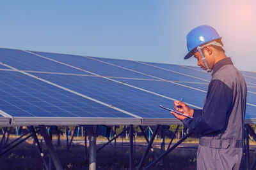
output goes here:
<path id="1" fill-rule="evenodd" d="M 14 71 L 0 71 L 0 109 L 13 117 L 131 116 Z"/>

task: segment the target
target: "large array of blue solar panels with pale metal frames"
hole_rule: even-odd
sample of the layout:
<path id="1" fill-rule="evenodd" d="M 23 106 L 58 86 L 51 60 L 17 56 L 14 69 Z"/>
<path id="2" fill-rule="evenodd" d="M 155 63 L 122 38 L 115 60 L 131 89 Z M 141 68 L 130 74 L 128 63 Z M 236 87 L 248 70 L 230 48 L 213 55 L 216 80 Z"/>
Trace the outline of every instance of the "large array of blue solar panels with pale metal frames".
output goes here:
<path id="1" fill-rule="evenodd" d="M 256 73 L 246 122 L 256 122 Z M 0 48 L 0 125 L 180 124 L 159 104 L 202 108 L 211 74 L 197 67 Z"/>

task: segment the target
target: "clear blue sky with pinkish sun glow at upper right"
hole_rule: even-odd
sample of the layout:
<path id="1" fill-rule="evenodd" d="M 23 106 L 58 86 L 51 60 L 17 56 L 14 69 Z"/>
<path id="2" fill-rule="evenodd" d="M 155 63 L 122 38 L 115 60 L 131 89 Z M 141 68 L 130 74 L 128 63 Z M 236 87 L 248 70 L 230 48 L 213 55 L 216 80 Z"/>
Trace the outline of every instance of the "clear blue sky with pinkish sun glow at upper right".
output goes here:
<path id="1" fill-rule="evenodd" d="M 255 0 L 1 1 L 0 47 L 196 66 L 186 34 L 214 27 L 226 55 L 256 72 Z"/>

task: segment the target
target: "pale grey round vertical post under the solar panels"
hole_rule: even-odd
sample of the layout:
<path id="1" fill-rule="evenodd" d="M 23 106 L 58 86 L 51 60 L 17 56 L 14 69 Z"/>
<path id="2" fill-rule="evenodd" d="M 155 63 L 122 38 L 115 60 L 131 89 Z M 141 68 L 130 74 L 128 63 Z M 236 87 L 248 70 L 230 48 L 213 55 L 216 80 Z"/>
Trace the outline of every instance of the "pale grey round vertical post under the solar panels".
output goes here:
<path id="1" fill-rule="evenodd" d="M 96 170 L 96 135 L 89 136 L 89 170 Z"/>

